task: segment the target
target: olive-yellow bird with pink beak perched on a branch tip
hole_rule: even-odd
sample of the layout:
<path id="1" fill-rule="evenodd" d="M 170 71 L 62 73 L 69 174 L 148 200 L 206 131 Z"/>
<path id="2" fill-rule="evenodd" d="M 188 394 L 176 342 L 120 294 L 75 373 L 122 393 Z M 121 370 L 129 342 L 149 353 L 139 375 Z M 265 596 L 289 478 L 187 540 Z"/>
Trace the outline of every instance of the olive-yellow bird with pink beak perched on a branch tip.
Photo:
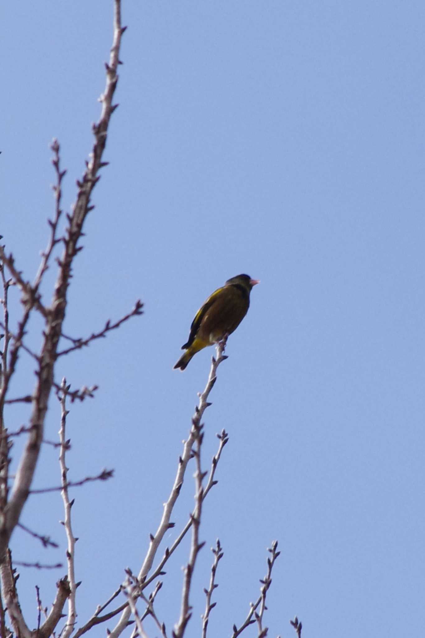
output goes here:
<path id="1" fill-rule="evenodd" d="M 222 288 L 217 288 L 199 308 L 191 325 L 191 334 L 182 346 L 186 352 L 174 369 L 184 370 L 189 361 L 202 348 L 221 341 L 236 330 L 249 308 L 252 286 L 260 283 L 249 275 L 237 275 L 227 279 Z"/>

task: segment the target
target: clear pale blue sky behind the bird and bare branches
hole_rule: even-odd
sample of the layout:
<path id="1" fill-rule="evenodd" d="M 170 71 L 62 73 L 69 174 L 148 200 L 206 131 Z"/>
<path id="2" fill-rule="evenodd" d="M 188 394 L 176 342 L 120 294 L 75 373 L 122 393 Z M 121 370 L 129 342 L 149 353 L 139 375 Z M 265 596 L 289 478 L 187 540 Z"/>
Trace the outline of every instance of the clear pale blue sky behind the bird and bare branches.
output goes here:
<path id="1" fill-rule="evenodd" d="M 124 3 L 110 165 L 66 330 L 87 335 L 139 297 L 145 315 L 57 370 L 74 386 L 99 385 L 69 415 L 71 479 L 115 468 L 112 481 L 73 494 L 81 623 L 124 567 L 138 571 L 168 498 L 213 353 L 171 369 L 192 317 L 247 272 L 261 285 L 205 418 L 205 466 L 222 427 L 229 444 L 205 505 L 187 635 L 200 634 L 217 537 L 212 636 L 245 618 L 274 538 L 269 635 L 292 635 L 294 614 L 305 638 L 424 625 L 424 14 L 423 3 L 396 1 Z M 54 211 L 48 145 L 61 143 L 69 210 L 99 115 L 112 3 L 8 3 L 3 15 L 1 234 L 32 279 Z M 15 389 L 32 383 L 22 358 Z M 27 418 L 15 407 L 8 425 Z M 47 437 L 58 428 L 52 399 Z M 57 484 L 56 457 L 43 450 L 37 487 Z M 189 471 L 176 526 L 192 508 L 191 481 Z M 61 548 L 17 530 L 14 558 L 64 560 L 61 517 L 58 494 L 32 496 L 23 522 Z M 169 630 L 187 555 L 184 544 L 157 598 Z M 34 585 L 50 605 L 62 573 L 20 569 L 34 627 Z"/>

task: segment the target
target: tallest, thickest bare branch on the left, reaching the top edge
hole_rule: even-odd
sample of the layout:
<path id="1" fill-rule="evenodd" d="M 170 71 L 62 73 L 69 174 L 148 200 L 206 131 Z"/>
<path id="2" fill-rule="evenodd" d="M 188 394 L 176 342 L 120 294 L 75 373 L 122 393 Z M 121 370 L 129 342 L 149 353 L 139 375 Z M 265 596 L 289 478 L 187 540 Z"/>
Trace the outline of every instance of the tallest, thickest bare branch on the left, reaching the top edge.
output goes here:
<path id="1" fill-rule="evenodd" d="M 106 64 L 106 89 L 101 96 L 102 111 L 99 122 L 93 126 L 93 133 L 95 137 L 94 146 L 90 160 L 87 162 L 87 168 L 83 174 L 82 181 L 77 182 L 78 194 L 76 202 L 73 207 L 71 215 L 68 216 L 68 226 L 66 228 L 66 236 L 64 237 L 64 250 L 62 256 L 57 263 L 59 265 L 59 272 L 55 284 L 55 291 L 50 308 L 45 309 L 38 295 L 38 286 L 40 285 L 41 277 L 36 278 L 36 283 L 33 286 L 25 282 L 18 273 L 13 264 L 13 258 L 6 257 L 3 247 L 0 247 L 0 259 L 6 264 L 11 271 L 13 278 L 17 280 L 18 285 L 24 290 L 24 298 L 22 304 L 24 306 L 24 316 L 20 322 L 17 334 L 17 344 L 22 342 L 24 336 L 25 326 L 31 313 L 31 309 L 36 306 L 38 310 L 45 316 L 45 332 L 43 345 L 41 346 L 40 353 L 40 365 L 37 371 L 37 382 L 32 394 L 32 414 L 30 419 L 31 426 L 34 426 L 34 430 L 29 433 L 27 444 L 25 445 L 24 453 L 20 459 L 17 475 L 13 484 L 10 500 L 4 508 L 4 516 L 0 521 L 0 561 L 6 560 L 6 551 L 8 543 L 15 526 L 19 521 L 22 508 L 25 501 L 28 498 L 29 490 L 31 487 L 32 479 L 34 477 L 34 471 L 40 454 L 41 441 L 43 440 L 43 429 L 45 416 L 47 413 L 48 401 L 50 398 L 50 392 L 54 383 L 54 364 L 57 358 L 57 346 L 59 339 L 61 338 L 62 325 L 64 322 L 65 309 L 67 304 L 67 293 L 69 286 L 69 279 L 71 277 L 71 268 L 73 260 L 80 251 L 81 246 L 78 246 L 78 242 L 83 234 L 83 224 L 85 218 L 92 210 L 90 205 L 90 198 L 92 191 L 97 181 L 99 180 L 99 170 L 104 166 L 102 162 L 102 156 L 106 145 L 106 137 L 108 131 L 108 125 L 110 117 L 117 107 L 112 104 L 113 94 L 117 87 L 118 75 L 117 67 L 119 64 L 119 50 L 121 37 L 124 33 L 124 29 L 121 26 L 121 14 L 120 14 L 120 0 L 115 0 L 115 16 L 114 16 L 114 29 L 113 29 L 113 45 L 110 56 L 110 63 Z M 55 143 L 54 143 L 55 144 Z M 54 163 L 57 162 L 57 172 L 60 174 L 59 169 L 59 147 L 54 146 Z M 60 183 L 59 183 L 60 186 Z M 59 200 L 57 193 L 57 211 L 59 210 Z M 59 213 L 57 212 L 57 216 Z M 52 237 L 50 244 L 52 242 Z M 47 249 L 47 255 L 49 255 L 49 248 Z M 43 257 L 41 262 L 41 269 L 39 271 L 45 271 L 43 264 L 46 263 L 47 258 Z M 16 344 L 15 344 L 16 346 Z M 16 347 L 15 347 L 16 350 Z M 13 360 L 14 358 L 14 360 Z M 11 355 L 10 368 L 6 372 L 5 383 L 0 392 L 0 411 L 3 408 L 3 401 L 5 398 L 8 382 L 10 380 L 11 373 L 13 374 L 17 359 L 17 352 L 13 357 Z M 3 427 L 3 424 L 1 424 Z M 10 609 L 10 608 L 9 608 Z"/>

